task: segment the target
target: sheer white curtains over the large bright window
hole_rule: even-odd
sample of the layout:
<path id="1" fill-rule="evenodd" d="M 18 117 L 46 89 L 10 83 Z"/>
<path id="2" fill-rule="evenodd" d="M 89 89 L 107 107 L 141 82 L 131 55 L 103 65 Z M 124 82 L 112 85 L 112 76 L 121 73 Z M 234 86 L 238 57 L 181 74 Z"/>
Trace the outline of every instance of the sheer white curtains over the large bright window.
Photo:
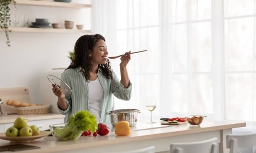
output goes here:
<path id="1" fill-rule="evenodd" d="M 149 119 L 145 97 L 155 96 L 155 120 L 202 114 L 246 121 L 253 131 L 254 0 L 92 2 L 93 32 L 106 37 L 110 56 L 148 49 L 132 55 L 132 99 L 115 98 L 115 109 L 139 109 Z M 119 62 L 111 61 L 118 74 Z"/>

